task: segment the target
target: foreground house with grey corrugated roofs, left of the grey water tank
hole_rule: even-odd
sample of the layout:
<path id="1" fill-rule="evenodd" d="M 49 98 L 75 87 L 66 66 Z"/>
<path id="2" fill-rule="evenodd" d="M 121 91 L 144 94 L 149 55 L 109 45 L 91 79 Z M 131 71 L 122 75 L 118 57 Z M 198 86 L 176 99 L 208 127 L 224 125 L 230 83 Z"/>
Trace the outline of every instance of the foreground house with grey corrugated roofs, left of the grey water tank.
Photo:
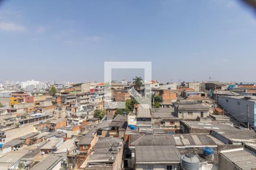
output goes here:
<path id="1" fill-rule="evenodd" d="M 196 154 L 204 147 L 211 147 L 217 153 L 218 145 L 223 143 L 209 134 L 130 135 L 131 157 L 126 160 L 131 169 L 180 169 L 181 153 Z"/>

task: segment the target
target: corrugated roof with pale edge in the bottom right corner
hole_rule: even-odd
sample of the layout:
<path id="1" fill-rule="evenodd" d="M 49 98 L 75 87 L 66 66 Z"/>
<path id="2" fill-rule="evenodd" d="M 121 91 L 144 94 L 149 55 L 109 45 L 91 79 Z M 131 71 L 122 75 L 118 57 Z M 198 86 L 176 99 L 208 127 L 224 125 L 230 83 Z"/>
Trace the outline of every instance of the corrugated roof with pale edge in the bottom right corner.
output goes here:
<path id="1" fill-rule="evenodd" d="M 241 169 L 250 170 L 256 168 L 256 155 L 246 148 L 224 150 L 220 154 Z"/>

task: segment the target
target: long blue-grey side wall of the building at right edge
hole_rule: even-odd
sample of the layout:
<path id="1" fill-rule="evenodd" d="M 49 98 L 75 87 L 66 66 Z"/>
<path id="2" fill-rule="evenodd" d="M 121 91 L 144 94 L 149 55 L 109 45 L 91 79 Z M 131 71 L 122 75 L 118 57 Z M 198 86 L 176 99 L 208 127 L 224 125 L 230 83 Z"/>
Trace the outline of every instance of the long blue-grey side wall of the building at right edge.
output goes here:
<path id="1" fill-rule="evenodd" d="M 221 105 L 236 120 L 247 122 L 247 105 L 249 105 L 250 126 L 256 126 L 256 105 L 254 101 L 237 99 L 229 96 L 219 96 L 218 104 Z M 237 115 L 238 114 L 238 115 Z"/>

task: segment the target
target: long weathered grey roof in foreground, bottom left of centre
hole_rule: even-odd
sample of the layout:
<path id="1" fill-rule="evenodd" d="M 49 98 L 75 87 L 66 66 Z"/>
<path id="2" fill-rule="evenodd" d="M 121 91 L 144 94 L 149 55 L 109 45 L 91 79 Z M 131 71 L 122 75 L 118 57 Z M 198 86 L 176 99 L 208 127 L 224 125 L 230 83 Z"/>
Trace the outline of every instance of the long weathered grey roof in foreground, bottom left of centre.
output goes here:
<path id="1" fill-rule="evenodd" d="M 122 154 L 123 140 L 121 138 L 100 138 L 80 169 L 122 169 Z"/>

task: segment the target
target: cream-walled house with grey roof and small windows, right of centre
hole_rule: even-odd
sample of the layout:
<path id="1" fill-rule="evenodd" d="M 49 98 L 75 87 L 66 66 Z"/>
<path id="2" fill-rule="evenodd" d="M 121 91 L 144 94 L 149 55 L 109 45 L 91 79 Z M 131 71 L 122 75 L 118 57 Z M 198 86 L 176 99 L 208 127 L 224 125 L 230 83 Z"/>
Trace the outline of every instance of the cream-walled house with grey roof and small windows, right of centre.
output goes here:
<path id="1" fill-rule="evenodd" d="M 175 116 L 182 120 L 196 120 L 197 117 L 208 117 L 210 107 L 203 104 L 175 104 Z"/>

